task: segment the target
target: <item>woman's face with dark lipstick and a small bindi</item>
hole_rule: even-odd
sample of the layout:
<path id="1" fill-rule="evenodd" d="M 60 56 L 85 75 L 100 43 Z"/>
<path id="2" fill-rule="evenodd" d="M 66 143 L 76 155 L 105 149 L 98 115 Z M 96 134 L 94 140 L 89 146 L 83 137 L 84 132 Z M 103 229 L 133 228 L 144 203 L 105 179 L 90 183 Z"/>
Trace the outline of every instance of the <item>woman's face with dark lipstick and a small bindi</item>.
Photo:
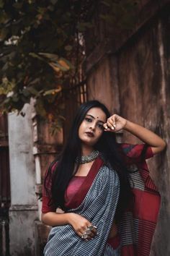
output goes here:
<path id="1" fill-rule="evenodd" d="M 93 147 L 104 131 L 107 116 L 101 108 L 91 108 L 79 127 L 79 138 L 84 145 Z"/>

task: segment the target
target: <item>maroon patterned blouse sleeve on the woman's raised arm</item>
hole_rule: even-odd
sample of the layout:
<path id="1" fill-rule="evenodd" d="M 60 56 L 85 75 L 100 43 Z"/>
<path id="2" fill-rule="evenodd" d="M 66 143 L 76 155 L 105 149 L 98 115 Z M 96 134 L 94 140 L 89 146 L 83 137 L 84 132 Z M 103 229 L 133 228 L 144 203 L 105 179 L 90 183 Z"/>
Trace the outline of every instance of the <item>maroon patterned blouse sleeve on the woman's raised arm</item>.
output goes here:
<path id="1" fill-rule="evenodd" d="M 143 155 L 143 160 L 153 157 L 153 151 L 151 146 L 144 144 L 121 144 L 121 148 L 125 155 L 127 156 L 128 163 L 138 163 L 141 161 L 142 153 L 144 148 L 146 151 Z"/>

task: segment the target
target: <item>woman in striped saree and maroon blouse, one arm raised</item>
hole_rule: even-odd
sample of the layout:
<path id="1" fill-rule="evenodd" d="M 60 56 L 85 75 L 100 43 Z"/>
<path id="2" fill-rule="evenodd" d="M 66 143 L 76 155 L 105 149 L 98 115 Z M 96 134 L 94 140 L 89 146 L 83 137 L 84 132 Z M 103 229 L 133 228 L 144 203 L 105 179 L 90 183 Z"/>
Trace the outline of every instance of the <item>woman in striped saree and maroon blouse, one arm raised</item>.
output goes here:
<path id="1" fill-rule="evenodd" d="M 119 145 L 120 129 L 144 143 Z M 149 255 L 160 197 L 145 159 L 165 147 L 148 129 L 110 116 L 99 101 L 81 105 L 63 153 L 45 176 L 42 222 L 53 226 L 45 255 Z"/>

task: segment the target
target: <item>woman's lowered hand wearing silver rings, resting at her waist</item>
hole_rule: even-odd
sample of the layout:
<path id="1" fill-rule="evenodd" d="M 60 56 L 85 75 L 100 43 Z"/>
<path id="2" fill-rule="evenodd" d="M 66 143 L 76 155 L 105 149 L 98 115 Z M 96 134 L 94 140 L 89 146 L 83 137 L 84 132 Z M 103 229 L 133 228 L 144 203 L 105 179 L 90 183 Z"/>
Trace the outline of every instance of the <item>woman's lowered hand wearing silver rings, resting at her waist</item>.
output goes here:
<path id="1" fill-rule="evenodd" d="M 79 214 L 69 213 L 69 224 L 71 224 L 75 233 L 81 238 L 83 238 L 82 236 L 84 234 L 87 234 L 83 238 L 85 240 L 90 240 L 97 235 L 97 227 L 93 226 L 93 224 L 90 221 L 80 216 Z"/>

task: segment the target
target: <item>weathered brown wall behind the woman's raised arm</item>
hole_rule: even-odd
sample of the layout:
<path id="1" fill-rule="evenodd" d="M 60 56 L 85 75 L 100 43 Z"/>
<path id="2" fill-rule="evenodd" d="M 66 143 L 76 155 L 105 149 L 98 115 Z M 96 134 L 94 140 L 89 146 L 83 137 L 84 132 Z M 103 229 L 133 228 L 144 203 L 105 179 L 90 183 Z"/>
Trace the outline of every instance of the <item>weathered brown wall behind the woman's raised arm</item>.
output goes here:
<path id="1" fill-rule="evenodd" d="M 97 98 L 113 112 L 164 137 L 166 152 L 149 160 L 151 176 L 161 193 L 161 210 L 151 256 L 169 256 L 170 226 L 170 7 L 154 17 L 120 48 L 87 58 L 89 99 Z M 122 42 L 121 42 L 122 43 Z M 99 49 L 98 49 L 99 51 Z M 103 51 L 103 49 L 102 49 Z M 107 54 L 107 53 L 114 54 Z M 124 133 L 126 142 L 139 142 Z"/>

